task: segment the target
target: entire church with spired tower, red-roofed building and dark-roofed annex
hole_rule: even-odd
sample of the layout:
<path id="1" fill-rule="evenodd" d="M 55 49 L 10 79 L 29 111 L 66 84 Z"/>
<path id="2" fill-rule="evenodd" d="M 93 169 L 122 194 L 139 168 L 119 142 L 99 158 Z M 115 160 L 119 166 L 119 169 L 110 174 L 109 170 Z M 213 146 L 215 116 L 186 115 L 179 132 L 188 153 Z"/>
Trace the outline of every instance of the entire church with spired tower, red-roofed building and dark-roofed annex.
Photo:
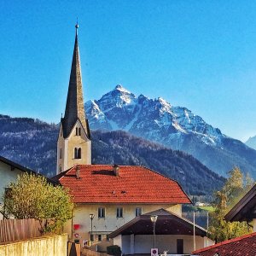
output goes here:
<path id="1" fill-rule="evenodd" d="M 125 254 L 150 253 L 152 247 L 183 254 L 206 247 L 212 242 L 207 230 L 182 217 L 182 205 L 191 201 L 177 181 L 143 166 L 91 164 L 93 142 L 84 112 L 78 24 L 75 27 L 53 178 L 69 189 L 76 205 L 65 227 L 69 239 L 102 252 L 119 245 Z M 155 236 L 152 216 L 157 216 Z"/>

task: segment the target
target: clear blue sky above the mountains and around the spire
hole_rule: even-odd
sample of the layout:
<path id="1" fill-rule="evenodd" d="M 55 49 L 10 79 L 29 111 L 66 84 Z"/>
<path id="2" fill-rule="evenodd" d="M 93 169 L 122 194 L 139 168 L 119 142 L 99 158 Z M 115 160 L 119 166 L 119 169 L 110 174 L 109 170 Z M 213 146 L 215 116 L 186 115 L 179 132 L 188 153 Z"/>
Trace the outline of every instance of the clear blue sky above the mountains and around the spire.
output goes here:
<path id="1" fill-rule="evenodd" d="M 0 113 L 59 122 L 79 17 L 84 100 L 116 84 L 256 135 L 256 2 L 0 2 Z"/>

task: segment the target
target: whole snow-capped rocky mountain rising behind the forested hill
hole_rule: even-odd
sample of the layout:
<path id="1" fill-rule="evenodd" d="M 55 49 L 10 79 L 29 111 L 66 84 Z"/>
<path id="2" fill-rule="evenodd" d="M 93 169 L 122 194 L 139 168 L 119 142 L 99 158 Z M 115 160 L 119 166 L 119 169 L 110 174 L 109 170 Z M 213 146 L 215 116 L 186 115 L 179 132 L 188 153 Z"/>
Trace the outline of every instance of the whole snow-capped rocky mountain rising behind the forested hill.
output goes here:
<path id="1" fill-rule="evenodd" d="M 135 96 L 117 85 L 101 99 L 86 102 L 85 109 L 91 129 L 128 131 L 183 150 L 221 175 L 233 166 L 256 174 L 255 150 L 225 136 L 188 108 L 174 107 L 163 98 Z"/>

